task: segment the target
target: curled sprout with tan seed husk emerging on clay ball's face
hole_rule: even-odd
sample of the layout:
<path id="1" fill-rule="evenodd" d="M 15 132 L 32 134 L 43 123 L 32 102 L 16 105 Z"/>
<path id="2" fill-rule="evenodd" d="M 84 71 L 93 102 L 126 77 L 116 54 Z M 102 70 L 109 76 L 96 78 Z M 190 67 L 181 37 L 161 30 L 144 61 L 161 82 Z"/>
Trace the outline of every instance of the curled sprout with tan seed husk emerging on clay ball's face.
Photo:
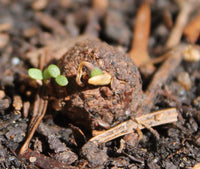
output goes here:
<path id="1" fill-rule="evenodd" d="M 95 67 L 92 63 L 82 61 L 79 64 L 78 68 L 78 74 L 76 76 L 76 83 L 79 86 L 84 86 L 84 84 L 81 82 L 82 77 L 82 69 L 83 67 L 86 67 L 90 71 L 90 78 L 88 79 L 88 83 L 91 85 L 108 85 L 111 82 L 111 75 L 107 72 L 102 72 L 102 70 L 98 67 Z"/>

